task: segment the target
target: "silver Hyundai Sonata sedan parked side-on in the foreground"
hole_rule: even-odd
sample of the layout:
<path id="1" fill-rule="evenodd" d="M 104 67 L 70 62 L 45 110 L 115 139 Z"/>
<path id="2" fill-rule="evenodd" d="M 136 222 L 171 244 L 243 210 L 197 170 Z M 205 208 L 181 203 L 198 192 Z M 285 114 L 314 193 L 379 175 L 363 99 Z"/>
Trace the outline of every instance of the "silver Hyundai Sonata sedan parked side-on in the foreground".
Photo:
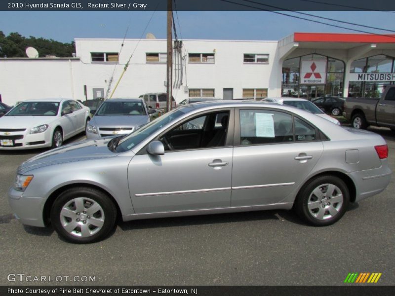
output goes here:
<path id="1" fill-rule="evenodd" d="M 75 243 L 105 238 L 117 217 L 293 208 L 323 226 L 386 188 L 387 157 L 381 136 L 307 111 L 201 102 L 128 135 L 41 153 L 19 166 L 8 195 L 22 223 L 52 223 Z"/>

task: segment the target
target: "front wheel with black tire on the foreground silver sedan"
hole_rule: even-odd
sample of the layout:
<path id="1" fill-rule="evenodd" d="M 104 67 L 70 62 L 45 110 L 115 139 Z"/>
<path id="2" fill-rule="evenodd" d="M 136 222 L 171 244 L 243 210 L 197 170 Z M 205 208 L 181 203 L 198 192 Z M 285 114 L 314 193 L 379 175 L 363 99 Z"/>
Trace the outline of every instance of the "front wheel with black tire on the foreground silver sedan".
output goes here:
<path id="1" fill-rule="evenodd" d="M 63 191 L 51 208 L 56 232 L 71 243 L 93 243 L 106 238 L 116 219 L 117 208 L 111 198 L 90 187 Z"/>

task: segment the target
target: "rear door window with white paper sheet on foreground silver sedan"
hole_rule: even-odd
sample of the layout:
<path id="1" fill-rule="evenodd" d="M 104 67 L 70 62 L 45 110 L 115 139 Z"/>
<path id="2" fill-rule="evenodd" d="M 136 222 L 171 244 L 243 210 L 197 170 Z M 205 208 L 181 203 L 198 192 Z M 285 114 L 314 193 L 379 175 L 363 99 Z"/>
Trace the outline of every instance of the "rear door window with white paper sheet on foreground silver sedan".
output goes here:
<path id="1" fill-rule="evenodd" d="M 240 144 L 293 141 L 292 116 L 277 111 L 240 110 Z"/>

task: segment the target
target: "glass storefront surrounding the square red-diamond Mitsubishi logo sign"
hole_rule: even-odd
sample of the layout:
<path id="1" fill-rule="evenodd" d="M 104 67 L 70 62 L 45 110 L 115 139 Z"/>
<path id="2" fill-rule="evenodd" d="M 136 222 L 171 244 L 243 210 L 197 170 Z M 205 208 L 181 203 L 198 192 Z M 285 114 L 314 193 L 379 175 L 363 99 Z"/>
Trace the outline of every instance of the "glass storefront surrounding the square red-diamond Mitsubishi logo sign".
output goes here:
<path id="1" fill-rule="evenodd" d="M 325 84 L 300 84 L 301 61 L 326 61 Z M 282 64 L 282 97 L 299 97 L 308 100 L 319 97 L 342 96 L 344 63 L 341 60 L 319 54 L 309 54 L 285 60 Z"/>

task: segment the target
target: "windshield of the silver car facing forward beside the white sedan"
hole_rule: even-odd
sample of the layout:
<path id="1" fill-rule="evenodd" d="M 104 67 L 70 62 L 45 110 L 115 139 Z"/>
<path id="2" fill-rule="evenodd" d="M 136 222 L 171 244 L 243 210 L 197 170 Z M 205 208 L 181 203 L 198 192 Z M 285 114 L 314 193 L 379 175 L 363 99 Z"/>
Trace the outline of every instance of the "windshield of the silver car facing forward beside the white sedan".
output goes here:
<path id="1" fill-rule="evenodd" d="M 104 102 L 96 116 L 100 115 L 146 115 L 146 111 L 141 102 Z"/>

